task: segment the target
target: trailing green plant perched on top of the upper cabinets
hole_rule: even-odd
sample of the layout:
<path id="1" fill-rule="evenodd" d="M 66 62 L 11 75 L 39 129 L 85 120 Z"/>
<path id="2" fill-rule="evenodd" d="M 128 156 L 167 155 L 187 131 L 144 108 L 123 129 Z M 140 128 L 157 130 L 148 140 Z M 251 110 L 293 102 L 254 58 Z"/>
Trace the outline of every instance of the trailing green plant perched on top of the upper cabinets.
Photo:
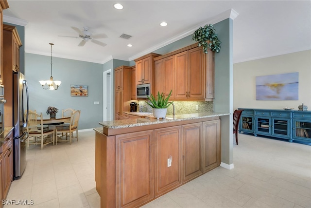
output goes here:
<path id="1" fill-rule="evenodd" d="M 216 30 L 212 24 L 207 24 L 204 27 L 199 27 L 196 31 L 194 31 L 192 40 L 199 42 L 198 46 L 203 46 L 204 53 L 207 54 L 208 48 L 212 51 L 216 51 L 216 53 L 220 52 L 220 44 L 217 37 Z"/>

